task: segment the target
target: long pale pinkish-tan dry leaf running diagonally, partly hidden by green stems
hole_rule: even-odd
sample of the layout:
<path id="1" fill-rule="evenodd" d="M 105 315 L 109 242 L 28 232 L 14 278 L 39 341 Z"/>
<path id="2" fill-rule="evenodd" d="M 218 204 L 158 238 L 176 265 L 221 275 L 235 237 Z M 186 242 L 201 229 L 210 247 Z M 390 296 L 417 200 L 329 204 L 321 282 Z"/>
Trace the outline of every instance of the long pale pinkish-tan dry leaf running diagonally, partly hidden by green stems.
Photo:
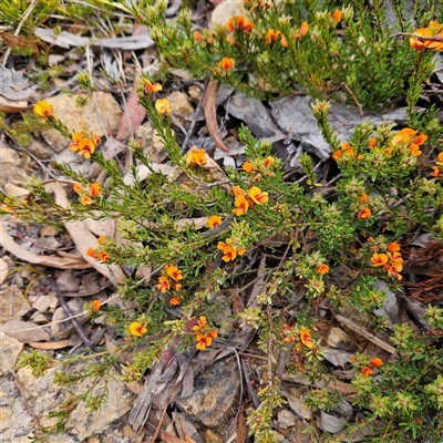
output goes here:
<path id="1" fill-rule="evenodd" d="M 69 208 L 70 203 L 66 198 L 66 193 L 60 183 L 53 184 L 55 194 L 55 203 L 64 208 Z M 75 246 L 80 250 L 82 257 L 89 261 L 100 274 L 107 277 L 114 285 L 124 281 L 124 274 L 120 266 L 104 265 L 92 257 L 86 256 L 86 250 L 92 247 L 96 248 L 97 243 L 95 236 L 87 229 L 84 222 L 70 222 L 64 224 L 68 233 L 72 237 Z"/>

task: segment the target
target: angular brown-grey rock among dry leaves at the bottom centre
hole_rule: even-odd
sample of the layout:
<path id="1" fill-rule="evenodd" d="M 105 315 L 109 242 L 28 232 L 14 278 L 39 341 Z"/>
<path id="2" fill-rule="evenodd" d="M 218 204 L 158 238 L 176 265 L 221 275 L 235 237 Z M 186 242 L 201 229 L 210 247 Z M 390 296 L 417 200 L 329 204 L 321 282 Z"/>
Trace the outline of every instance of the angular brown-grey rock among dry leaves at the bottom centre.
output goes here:
<path id="1" fill-rule="evenodd" d="M 230 358 L 207 367 L 195 378 L 193 394 L 176 400 L 176 404 L 190 420 L 217 427 L 227 423 L 238 392 L 238 367 Z"/>

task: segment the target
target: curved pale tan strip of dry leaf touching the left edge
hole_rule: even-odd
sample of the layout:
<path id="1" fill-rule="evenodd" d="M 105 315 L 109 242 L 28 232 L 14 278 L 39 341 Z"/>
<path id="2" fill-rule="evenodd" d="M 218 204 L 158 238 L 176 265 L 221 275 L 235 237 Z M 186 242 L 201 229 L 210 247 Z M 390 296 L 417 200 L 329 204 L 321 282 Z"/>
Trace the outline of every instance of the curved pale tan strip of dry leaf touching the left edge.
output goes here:
<path id="1" fill-rule="evenodd" d="M 13 238 L 8 234 L 7 227 L 0 226 L 0 245 L 3 246 L 8 253 L 13 254 L 20 260 L 31 262 L 33 265 L 49 266 L 50 268 L 58 269 L 89 269 L 92 266 L 86 262 L 82 257 L 55 257 L 55 256 L 41 256 L 24 249 L 18 245 Z"/>

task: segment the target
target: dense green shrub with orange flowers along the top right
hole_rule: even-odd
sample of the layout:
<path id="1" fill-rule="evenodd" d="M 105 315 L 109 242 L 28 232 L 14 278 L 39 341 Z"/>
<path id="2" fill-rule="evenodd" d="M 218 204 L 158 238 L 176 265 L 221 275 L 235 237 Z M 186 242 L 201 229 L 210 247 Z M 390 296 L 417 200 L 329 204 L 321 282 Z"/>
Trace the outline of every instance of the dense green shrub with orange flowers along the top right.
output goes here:
<path id="1" fill-rule="evenodd" d="M 380 2 L 371 8 L 363 1 L 342 9 L 327 4 L 249 0 L 243 16 L 203 30 L 195 30 L 186 9 L 177 21 L 166 20 L 166 1 L 134 10 L 167 66 L 188 70 L 193 78 L 209 74 L 259 99 L 307 91 L 379 109 L 430 76 L 432 54 L 411 50 L 408 38 L 390 38 L 395 29 L 388 25 Z M 412 32 L 401 2 L 393 11 L 399 30 Z M 419 34 L 435 35 L 440 29 L 431 24 Z M 411 39 L 418 49 L 442 44 Z"/>

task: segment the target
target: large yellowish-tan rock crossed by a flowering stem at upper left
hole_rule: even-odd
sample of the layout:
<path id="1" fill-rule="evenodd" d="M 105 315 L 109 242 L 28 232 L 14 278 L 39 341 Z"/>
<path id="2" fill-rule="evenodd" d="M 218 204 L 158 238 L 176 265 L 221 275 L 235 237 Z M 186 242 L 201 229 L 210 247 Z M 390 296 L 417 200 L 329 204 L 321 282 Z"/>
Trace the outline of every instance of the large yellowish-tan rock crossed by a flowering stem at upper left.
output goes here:
<path id="1" fill-rule="evenodd" d="M 95 92 L 95 100 L 91 96 L 87 103 L 81 107 L 76 106 L 76 95 L 60 94 L 47 100 L 48 103 L 54 106 L 58 119 L 69 130 L 80 132 L 85 128 L 102 137 L 106 127 L 111 131 L 119 128 L 122 110 L 112 94 L 101 91 Z M 55 152 L 66 148 L 70 143 L 69 138 L 52 127 L 42 131 L 42 135 Z"/>

